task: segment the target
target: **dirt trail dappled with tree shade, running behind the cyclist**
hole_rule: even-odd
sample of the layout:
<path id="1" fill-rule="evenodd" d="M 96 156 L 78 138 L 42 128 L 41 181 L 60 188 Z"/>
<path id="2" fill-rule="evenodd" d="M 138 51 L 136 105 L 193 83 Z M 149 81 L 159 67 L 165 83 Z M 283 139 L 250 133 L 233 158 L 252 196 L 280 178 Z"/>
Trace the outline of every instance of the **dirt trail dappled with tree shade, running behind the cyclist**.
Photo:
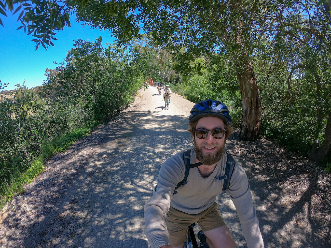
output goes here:
<path id="1" fill-rule="evenodd" d="M 193 105 L 173 94 L 167 110 L 156 87 L 140 90 L 115 120 L 53 156 L 46 171 L 1 211 L 0 247 L 149 247 L 143 206 L 162 162 L 192 146 L 185 130 Z M 294 199 L 293 187 L 276 184 L 295 182 L 284 178 L 284 151 L 263 140 L 241 142 L 238 131 L 227 148 L 247 171 L 265 247 L 330 247 L 328 226 L 323 235 L 314 231 L 306 198 Z M 246 247 L 228 195 L 217 201 L 238 247 Z"/>

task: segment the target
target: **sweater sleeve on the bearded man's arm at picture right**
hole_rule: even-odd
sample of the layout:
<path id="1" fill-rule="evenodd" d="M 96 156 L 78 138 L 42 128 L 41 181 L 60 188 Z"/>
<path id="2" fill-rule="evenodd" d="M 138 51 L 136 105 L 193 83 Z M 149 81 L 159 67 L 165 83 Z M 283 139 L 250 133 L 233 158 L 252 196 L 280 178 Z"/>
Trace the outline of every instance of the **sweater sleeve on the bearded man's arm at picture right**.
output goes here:
<path id="1" fill-rule="evenodd" d="M 247 175 L 244 168 L 239 164 L 236 165 L 233 171 L 230 186 L 226 191 L 230 194 L 231 200 L 236 207 L 247 247 L 264 248 Z"/>

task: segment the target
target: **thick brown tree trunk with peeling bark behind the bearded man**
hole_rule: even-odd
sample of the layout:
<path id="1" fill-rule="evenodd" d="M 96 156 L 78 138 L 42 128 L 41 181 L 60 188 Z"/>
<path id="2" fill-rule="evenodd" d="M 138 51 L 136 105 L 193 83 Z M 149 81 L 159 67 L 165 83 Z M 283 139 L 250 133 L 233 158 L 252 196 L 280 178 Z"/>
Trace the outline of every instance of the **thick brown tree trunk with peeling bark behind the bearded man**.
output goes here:
<path id="1" fill-rule="evenodd" d="M 262 104 L 251 62 L 248 62 L 245 71 L 237 74 L 237 78 L 242 108 L 240 138 L 244 141 L 254 141 L 261 135 Z"/>

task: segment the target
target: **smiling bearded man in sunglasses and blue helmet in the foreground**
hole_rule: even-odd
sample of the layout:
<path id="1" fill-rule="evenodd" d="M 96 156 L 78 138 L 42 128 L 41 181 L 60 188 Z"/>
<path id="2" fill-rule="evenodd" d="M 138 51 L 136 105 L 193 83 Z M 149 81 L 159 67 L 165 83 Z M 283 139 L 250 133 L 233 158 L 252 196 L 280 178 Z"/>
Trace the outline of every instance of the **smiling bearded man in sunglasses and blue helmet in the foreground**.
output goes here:
<path id="1" fill-rule="evenodd" d="M 204 247 L 237 247 L 215 202 L 223 188 L 224 180 L 218 179 L 225 174 L 225 142 L 232 134 L 229 110 L 218 101 L 201 101 L 192 108 L 188 123 L 194 149 L 187 183 L 176 188 L 185 174 L 184 152 L 179 152 L 161 166 L 153 196 L 144 207 L 146 236 L 151 248 L 183 248 L 188 227 L 197 222 Z M 236 207 L 247 247 L 264 247 L 247 176 L 237 161 L 225 191 Z"/>

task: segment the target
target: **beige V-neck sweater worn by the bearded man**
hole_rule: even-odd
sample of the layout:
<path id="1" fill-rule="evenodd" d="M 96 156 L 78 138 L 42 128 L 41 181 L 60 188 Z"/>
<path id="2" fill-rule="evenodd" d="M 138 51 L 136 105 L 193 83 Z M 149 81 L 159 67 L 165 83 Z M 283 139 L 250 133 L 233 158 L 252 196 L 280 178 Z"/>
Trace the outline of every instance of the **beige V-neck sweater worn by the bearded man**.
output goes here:
<path id="1" fill-rule="evenodd" d="M 144 208 L 145 233 L 152 248 L 170 245 L 165 223 L 170 206 L 188 214 L 198 214 L 209 208 L 215 202 L 216 196 L 222 193 L 223 180 L 215 178 L 225 174 L 226 153 L 208 178 L 203 178 L 197 167 L 190 168 L 187 184 L 180 186 L 178 193 L 173 195 L 175 186 L 184 178 L 183 153 L 184 151 L 173 155 L 161 166 L 158 184 Z M 194 163 L 196 158 L 192 149 L 191 164 Z M 226 192 L 236 207 L 247 247 L 264 247 L 247 176 L 237 161 Z"/>

